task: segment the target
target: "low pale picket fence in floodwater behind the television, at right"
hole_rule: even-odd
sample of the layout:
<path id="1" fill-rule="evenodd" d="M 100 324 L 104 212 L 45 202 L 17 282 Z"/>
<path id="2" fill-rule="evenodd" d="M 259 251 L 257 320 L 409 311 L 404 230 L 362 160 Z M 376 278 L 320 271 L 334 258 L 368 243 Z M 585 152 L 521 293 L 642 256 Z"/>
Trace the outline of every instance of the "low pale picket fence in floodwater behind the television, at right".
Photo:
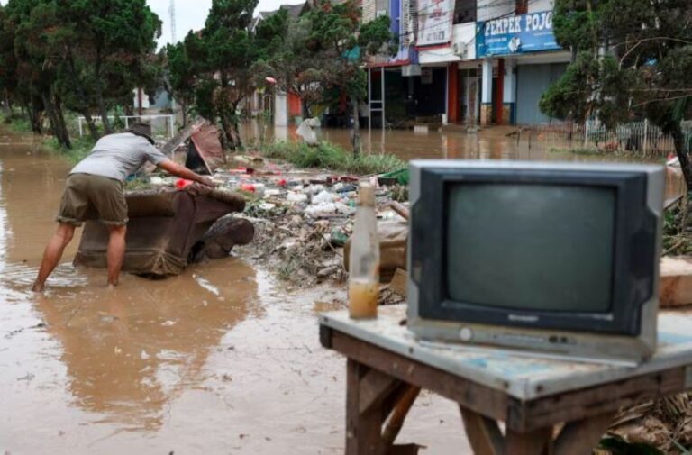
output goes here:
<path id="1" fill-rule="evenodd" d="M 683 147 L 692 150 L 692 121 L 681 123 Z M 645 120 L 606 128 L 596 120 L 587 123 L 547 123 L 523 128 L 534 140 L 575 149 L 627 151 L 642 156 L 667 156 L 675 152 L 675 141 L 669 133 Z"/>

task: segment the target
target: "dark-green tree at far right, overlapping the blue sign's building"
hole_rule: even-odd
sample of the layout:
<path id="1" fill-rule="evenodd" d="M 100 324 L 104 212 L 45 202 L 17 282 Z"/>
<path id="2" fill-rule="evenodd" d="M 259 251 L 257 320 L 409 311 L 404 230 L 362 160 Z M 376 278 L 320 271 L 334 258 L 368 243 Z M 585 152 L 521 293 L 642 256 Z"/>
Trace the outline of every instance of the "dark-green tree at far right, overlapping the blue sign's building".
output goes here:
<path id="1" fill-rule="evenodd" d="M 692 114 L 689 1 L 557 0 L 554 28 L 573 59 L 542 96 L 542 111 L 578 122 L 597 117 L 609 125 L 649 119 L 672 134 L 692 189 L 680 124 Z"/>

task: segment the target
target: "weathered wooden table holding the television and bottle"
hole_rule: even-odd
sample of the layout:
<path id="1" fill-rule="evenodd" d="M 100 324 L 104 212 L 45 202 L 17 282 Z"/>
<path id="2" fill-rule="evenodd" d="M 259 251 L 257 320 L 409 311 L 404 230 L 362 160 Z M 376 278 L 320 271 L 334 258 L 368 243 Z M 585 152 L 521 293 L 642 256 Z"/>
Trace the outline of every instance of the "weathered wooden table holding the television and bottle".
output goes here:
<path id="1" fill-rule="evenodd" d="M 659 349 L 636 368 L 421 343 L 405 327 L 405 305 L 382 306 L 371 321 L 322 314 L 320 341 L 348 359 L 349 455 L 415 453 L 394 441 L 421 388 L 459 404 L 479 455 L 591 453 L 621 406 L 692 388 L 687 314 L 660 314 Z"/>

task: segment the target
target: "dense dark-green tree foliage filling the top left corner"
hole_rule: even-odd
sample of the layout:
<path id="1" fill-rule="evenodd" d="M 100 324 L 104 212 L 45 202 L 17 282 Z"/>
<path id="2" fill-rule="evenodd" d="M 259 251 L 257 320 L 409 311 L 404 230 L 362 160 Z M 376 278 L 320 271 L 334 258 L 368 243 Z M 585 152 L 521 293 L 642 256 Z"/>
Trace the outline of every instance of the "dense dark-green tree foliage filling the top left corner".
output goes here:
<path id="1" fill-rule="evenodd" d="M 9 0 L 0 6 L 0 93 L 23 105 L 32 130 L 41 117 L 63 147 L 71 141 L 65 108 L 107 112 L 132 106 L 132 89 L 159 86 L 153 51 L 161 23 L 145 0 Z"/>

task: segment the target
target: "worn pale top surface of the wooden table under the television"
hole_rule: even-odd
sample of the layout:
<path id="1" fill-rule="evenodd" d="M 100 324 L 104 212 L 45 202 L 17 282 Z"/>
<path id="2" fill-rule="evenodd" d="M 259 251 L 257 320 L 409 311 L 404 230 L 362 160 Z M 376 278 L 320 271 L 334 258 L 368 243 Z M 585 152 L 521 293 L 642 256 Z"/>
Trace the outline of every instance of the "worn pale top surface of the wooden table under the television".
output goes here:
<path id="1" fill-rule="evenodd" d="M 378 318 L 354 321 L 348 312 L 325 313 L 320 323 L 385 350 L 505 392 L 525 401 L 560 392 L 684 367 L 692 387 L 692 315 L 662 312 L 659 348 L 638 367 L 544 359 L 507 350 L 419 342 L 405 327 L 406 305 L 380 306 Z"/>

